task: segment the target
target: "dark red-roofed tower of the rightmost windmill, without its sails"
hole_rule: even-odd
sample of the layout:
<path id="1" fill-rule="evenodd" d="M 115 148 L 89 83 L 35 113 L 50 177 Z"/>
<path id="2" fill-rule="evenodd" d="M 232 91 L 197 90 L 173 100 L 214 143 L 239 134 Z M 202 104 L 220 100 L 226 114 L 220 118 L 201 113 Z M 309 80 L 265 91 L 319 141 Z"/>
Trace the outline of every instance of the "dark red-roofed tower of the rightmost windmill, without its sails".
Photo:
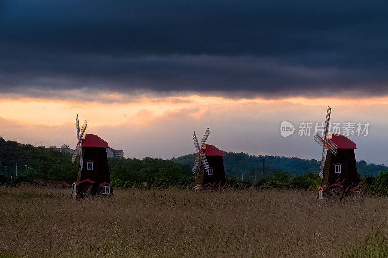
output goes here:
<path id="1" fill-rule="evenodd" d="M 337 155 L 327 152 L 319 197 L 333 193 L 347 195 L 360 183 L 354 152 L 356 144 L 340 134 L 330 134 L 329 140 L 337 145 Z"/>

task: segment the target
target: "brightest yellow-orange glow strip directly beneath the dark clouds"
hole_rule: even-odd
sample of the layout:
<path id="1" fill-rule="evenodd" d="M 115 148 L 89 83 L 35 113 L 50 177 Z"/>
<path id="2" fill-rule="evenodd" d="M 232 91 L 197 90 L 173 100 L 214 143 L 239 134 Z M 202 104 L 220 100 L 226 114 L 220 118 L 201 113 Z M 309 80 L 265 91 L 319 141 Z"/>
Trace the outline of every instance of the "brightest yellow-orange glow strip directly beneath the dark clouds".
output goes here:
<path id="1" fill-rule="evenodd" d="M 103 94 L 106 96 L 107 94 Z M 192 110 L 189 116 L 199 119 L 209 108 L 230 108 L 244 104 L 264 104 L 265 106 L 284 106 L 286 103 L 303 106 L 347 106 L 352 109 L 365 105 L 387 105 L 388 97 L 361 98 L 361 99 L 336 99 L 336 98 L 284 98 L 284 99 L 231 99 L 212 96 L 175 96 L 175 97 L 151 97 L 141 95 L 132 102 L 120 102 L 125 99 L 122 94 L 109 94 L 111 99 L 117 101 L 82 102 L 79 100 L 52 100 L 38 98 L 0 99 L 1 117 L 17 121 L 23 124 L 36 125 L 61 125 L 73 122 L 75 114 L 80 118 L 87 118 L 95 126 L 118 125 L 126 122 L 142 123 L 149 116 L 158 117 L 166 112 L 180 109 Z M 260 105 L 261 106 L 261 105 Z"/>

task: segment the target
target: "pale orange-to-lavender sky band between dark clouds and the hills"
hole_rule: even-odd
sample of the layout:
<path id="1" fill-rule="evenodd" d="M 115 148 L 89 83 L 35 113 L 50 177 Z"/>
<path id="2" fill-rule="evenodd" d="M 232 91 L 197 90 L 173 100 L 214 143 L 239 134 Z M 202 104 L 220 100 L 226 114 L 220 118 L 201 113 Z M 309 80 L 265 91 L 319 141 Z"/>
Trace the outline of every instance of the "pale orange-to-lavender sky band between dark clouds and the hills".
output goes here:
<path id="1" fill-rule="evenodd" d="M 282 121 L 370 122 L 368 137 L 351 137 L 357 159 L 388 164 L 385 137 L 388 97 L 282 99 L 219 96 L 101 94 L 96 101 L 43 98 L 0 99 L 0 135 L 38 145 L 75 145 L 75 116 L 88 121 L 87 133 L 107 140 L 126 157 L 171 158 L 194 152 L 191 135 L 210 127 L 209 143 L 229 152 L 317 158 L 312 138 L 279 134 Z M 372 143 L 372 144 L 371 144 Z M 136 146 L 136 148 L 134 148 Z M 295 146 L 298 146 L 295 148 Z M 316 153 L 315 153 L 316 152 Z M 358 155 L 358 156 L 357 156 Z"/>

